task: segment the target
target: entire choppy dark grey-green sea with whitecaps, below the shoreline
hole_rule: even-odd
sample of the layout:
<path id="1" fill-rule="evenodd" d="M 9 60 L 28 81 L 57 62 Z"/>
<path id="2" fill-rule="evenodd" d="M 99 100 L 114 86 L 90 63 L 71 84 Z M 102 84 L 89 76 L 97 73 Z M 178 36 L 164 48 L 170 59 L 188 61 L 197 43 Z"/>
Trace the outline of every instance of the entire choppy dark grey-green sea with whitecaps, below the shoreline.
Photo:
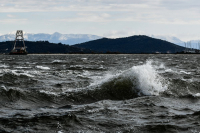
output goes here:
<path id="1" fill-rule="evenodd" d="M 200 132 L 200 55 L 0 59 L 0 132 Z"/>

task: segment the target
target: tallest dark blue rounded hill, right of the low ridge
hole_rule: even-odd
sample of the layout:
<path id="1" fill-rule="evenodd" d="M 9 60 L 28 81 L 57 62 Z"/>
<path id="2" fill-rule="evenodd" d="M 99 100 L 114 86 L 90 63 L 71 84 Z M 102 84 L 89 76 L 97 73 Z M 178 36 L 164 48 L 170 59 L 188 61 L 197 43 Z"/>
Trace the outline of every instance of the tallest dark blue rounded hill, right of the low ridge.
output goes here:
<path id="1" fill-rule="evenodd" d="M 102 38 L 73 46 L 103 53 L 176 53 L 185 49 L 167 41 L 142 35 L 117 39 Z"/>

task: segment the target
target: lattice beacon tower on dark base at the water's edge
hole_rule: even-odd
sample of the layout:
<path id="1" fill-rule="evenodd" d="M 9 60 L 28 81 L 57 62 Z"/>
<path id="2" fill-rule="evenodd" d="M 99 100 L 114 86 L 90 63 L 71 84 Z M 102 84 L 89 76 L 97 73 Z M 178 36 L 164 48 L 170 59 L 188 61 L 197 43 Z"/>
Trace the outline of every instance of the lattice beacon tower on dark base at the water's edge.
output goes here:
<path id="1" fill-rule="evenodd" d="M 24 43 L 24 36 L 22 30 L 17 30 L 15 43 L 10 55 L 27 55 L 26 46 Z"/>

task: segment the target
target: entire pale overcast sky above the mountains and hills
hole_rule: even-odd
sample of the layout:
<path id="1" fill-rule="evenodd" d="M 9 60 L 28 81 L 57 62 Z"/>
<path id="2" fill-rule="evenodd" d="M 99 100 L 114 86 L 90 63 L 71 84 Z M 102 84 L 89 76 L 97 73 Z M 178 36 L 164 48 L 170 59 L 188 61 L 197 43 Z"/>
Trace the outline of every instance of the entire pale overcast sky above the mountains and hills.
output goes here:
<path id="1" fill-rule="evenodd" d="M 0 34 L 170 35 L 200 39 L 199 0 L 0 0 Z"/>

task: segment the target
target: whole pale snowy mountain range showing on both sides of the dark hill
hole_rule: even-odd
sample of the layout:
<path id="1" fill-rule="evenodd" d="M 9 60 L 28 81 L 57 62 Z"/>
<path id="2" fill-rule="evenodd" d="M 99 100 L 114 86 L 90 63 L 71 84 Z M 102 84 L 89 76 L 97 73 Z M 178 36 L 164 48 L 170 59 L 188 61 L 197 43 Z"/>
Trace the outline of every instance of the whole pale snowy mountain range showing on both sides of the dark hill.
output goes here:
<path id="1" fill-rule="evenodd" d="M 151 35 L 150 37 L 168 41 L 179 46 L 185 46 L 184 41 L 180 40 L 174 36 L 162 36 L 162 35 Z M 84 43 L 92 40 L 97 40 L 103 38 L 101 36 L 90 35 L 90 34 L 61 34 L 55 32 L 53 34 L 45 33 L 25 33 L 24 38 L 26 41 L 49 41 L 50 43 L 62 43 L 68 45 L 74 45 L 79 43 Z M 15 39 L 15 33 L 9 33 L 5 35 L 0 35 L 0 42 L 13 41 Z M 192 47 L 197 48 L 197 43 L 200 40 L 191 40 Z"/>

